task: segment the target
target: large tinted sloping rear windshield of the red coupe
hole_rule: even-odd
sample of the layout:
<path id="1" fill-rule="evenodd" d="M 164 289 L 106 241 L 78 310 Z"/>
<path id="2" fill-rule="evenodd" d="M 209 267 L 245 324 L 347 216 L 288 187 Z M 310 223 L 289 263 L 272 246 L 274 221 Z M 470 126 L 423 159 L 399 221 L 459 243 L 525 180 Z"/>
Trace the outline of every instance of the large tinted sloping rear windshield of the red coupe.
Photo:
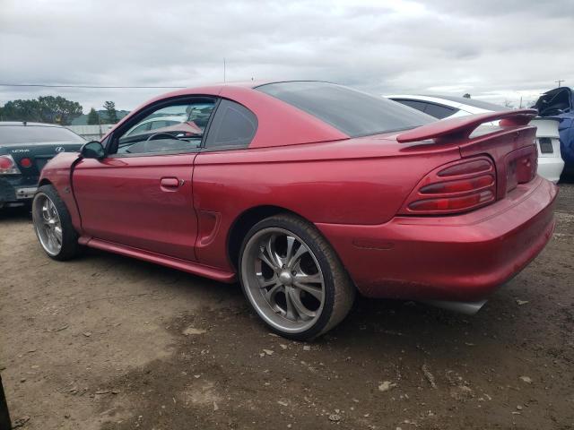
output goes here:
<path id="1" fill-rule="evenodd" d="M 277 82 L 256 88 L 351 137 L 408 130 L 436 119 L 400 103 L 326 82 Z"/>

